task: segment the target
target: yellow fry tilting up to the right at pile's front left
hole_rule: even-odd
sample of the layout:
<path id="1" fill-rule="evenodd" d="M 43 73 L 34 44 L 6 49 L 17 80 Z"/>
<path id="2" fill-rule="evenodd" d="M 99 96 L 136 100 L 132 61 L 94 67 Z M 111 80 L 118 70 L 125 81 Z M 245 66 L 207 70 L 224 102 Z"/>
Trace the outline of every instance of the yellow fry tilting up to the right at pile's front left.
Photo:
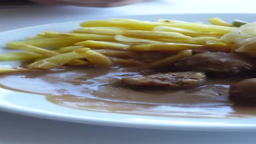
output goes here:
<path id="1" fill-rule="evenodd" d="M 51 69 L 60 67 L 68 62 L 71 62 L 75 59 L 84 58 L 83 56 L 78 55 L 75 52 L 63 53 L 61 55 L 56 55 L 53 57 L 41 59 L 34 63 L 27 65 L 27 68 L 30 69 Z"/>

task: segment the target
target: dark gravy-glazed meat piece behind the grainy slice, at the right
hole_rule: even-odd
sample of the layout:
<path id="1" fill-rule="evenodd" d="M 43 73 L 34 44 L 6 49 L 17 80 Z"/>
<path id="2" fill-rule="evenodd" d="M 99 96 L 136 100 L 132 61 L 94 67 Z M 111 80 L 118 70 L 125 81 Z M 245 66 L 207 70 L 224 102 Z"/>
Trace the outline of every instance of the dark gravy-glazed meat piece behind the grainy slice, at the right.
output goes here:
<path id="1" fill-rule="evenodd" d="M 225 52 L 198 53 L 174 65 L 184 71 L 202 71 L 211 75 L 236 75 L 254 69 L 251 59 Z"/>

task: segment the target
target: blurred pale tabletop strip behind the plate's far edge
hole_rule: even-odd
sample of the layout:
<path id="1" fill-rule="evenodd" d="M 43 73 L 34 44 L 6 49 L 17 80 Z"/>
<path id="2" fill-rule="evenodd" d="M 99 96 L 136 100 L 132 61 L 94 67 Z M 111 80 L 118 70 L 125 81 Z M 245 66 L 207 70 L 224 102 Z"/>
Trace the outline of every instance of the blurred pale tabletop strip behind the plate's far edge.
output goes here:
<path id="1" fill-rule="evenodd" d="M 112 2 L 115 1 L 117 0 L 114 0 Z M 104 0 L 104 2 L 106 2 L 106 0 Z M 129 3 L 130 2 L 132 1 L 129 1 Z M 144 0 L 138 1 L 137 3 L 134 3 L 133 1 L 132 3 L 133 4 L 123 5 L 119 7 L 94 8 L 75 7 L 73 5 L 38 4 L 24 0 L 0 1 L 0 31 L 19 27 L 42 25 L 45 23 L 123 15 L 185 13 L 256 13 L 256 9 L 253 4 L 255 2 L 253 0 L 244 0 L 242 1 L 242 4 L 241 1 L 237 0 Z M 13 22 L 14 19 L 15 23 Z"/>

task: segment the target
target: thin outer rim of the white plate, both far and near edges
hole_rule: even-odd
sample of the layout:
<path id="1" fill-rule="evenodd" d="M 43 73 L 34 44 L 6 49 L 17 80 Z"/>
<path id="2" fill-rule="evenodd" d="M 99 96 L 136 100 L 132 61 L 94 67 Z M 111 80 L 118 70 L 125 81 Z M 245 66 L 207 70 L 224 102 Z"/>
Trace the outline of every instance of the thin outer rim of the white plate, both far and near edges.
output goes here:
<path id="1" fill-rule="evenodd" d="M 236 13 L 239 15 L 256 15 L 253 13 Z M 204 13 L 203 15 L 236 15 L 235 13 Z M 151 15 L 202 15 L 199 13 L 195 14 L 150 14 L 150 15 L 126 15 L 126 16 L 113 16 L 113 17 L 139 17 L 139 16 L 151 16 Z M 47 25 L 58 25 L 61 23 L 68 23 L 68 22 L 82 22 L 86 20 L 95 20 L 95 19 L 107 19 L 108 17 L 94 17 L 84 20 L 75 20 L 75 21 L 63 21 L 63 22 L 55 22 L 55 23 L 47 23 L 44 25 L 36 25 L 36 26 L 28 26 L 22 27 L 17 29 L 11 29 L 8 31 L 0 32 L 2 34 L 13 33 L 15 31 L 24 31 L 26 29 L 33 29 L 37 27 L 43 27 Z M 13 104 L 11 104 L 13 105 Z M 9 105 L 10 106 L 10 105 Z M 70 108 L 72 109 L 72 108 Z M 204 124 L 184 124 L 177 125 L 172 124 L 162 125 L 162 124 L 153 124 L 153 123 L 134 123 L 134 122 L 120 122 L 114 121 L 114 119 L 91 119 L 91 118 L 84 118 L 81 116 L 74 116 L 74 115 L 66 115 L 63 113 L 56 113 L 56 112 L 45 112 L 36 109 L 32 109 L 30 107 L 24 107 L 19 105 L 13 105 L 13 107 L 8 107 L 6 105 L 2 105 L 0 102 L 0 111 L 15 113 L 18 115 L 30 116 L 30 117 L 37 117 L 37 118 L 44 118 L 44 119 L 51 119 L 55 121 L 65 121 L 65 122 L 75 122 L 75 123 L 84 123 L 84 124 L 95 124 L 95 125 L 107 125 L 107 126 L 114 126 L 114 127 L 126 127 L 126 128 L 143 128 L 143 129 L 165 129 L 165 130 L 200 130 L 200 131 L 256 131 L 256 123 L 255 124 L 227 124 L 227 125 L 204 125 Z M 39 111 L 39 112 L 38 112 Z M 130 114 L 121 114 L 116 113 L 117 115 L 130 115 Z"/>

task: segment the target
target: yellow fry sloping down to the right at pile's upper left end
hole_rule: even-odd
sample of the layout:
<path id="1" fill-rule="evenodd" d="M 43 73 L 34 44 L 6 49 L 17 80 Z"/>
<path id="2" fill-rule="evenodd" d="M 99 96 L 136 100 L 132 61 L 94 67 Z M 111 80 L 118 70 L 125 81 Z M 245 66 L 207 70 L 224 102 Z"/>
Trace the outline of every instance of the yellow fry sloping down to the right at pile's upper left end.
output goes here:
<path id="1" fill-rule="evenodd" d="M 16 49 L 34 52 L 34 53 L 37 53 L 38 55 L 42 55 L 45 57 L 52 57 L 60 54 L 54 51 L 50 51 L 50 50 L 42 49 L 40 47 L 26 45 L 26 44 L 20 45 L 19 47 L 16 47 Z"/>

